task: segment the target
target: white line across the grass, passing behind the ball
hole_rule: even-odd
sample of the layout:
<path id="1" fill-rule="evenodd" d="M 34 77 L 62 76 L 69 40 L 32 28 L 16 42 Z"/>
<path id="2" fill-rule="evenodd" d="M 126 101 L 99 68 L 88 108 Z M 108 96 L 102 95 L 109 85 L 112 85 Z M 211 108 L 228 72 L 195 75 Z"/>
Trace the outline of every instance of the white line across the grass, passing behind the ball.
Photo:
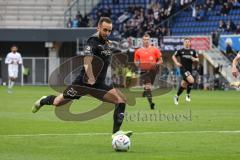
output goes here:
<path id="1" fill-rule="evenodd" d="M 153 135 L 153 134 L 201 134 L 201 133 L 240 133 L 235 131 L 170 131 L 170 132 L 134 132 L 134 135 Z M 9 134 L 0 135 L 2 137 L 37 137 L 37 136 L 110 136 L 111 133 L 52 133 L 52 134 Z"/>

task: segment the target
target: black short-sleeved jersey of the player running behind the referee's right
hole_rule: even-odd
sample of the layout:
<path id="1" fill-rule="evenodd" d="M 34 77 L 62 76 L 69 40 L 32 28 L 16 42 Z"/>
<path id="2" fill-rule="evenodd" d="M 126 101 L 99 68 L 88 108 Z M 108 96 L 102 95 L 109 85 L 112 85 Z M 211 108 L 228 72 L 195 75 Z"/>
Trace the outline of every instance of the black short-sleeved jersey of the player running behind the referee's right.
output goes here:
<path id="1" fill-rule="evenodd" d="M 174 55 L 176 57 L 180 57 L 180 63 L 182 64 L 182 69 L 192 71 L 192 57 L 198 58 L 198 54 L 193 49 L 185 49 L 182 48 L 180 50 L 177 50 Z M 180 68 L 180 69 L 181 69 Z"/>

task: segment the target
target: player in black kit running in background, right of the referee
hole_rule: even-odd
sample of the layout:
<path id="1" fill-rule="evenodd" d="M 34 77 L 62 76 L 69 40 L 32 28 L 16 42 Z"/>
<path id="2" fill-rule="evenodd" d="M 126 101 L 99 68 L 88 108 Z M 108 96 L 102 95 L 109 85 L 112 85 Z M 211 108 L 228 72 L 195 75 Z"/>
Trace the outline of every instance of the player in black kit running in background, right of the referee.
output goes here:
<path id="1" fill-rule="evenodd" d="M 182 75 L 182 82 L 178 89 L 177 95 L 174 97 L 174 103 L 178 105 L 178 97 L 182 94 L 184 89 L 187 90 L 186 101 L 190 102 L 190 92 L 194 83 L 192 76 L 192 64 L 193 62 L 199 62 L 198 54 L 194 49 L 191 49 L 191 41 L 189 38 L 184 39 L 184 48 L 177 50 L 172 56 L 173 62 L 177 67 L 180 67 L 180 73 Z M 177 60 L 179 57 L 180 62 Z"/>

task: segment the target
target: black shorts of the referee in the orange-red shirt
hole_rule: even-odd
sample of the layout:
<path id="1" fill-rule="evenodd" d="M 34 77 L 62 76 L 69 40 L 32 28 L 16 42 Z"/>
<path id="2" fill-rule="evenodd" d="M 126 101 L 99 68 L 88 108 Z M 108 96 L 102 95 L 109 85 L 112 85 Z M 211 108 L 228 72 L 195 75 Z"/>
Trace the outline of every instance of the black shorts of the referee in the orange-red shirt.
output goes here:
<path id="1" fill-rule="evenodd" d="M 140 77 L 141 84 L 147 84 L 147 83 L 153 84 L 157 73 L 158 73 L 158 69 L 152 69 L 149 71 L 141 72 L 141 77 Z"/>

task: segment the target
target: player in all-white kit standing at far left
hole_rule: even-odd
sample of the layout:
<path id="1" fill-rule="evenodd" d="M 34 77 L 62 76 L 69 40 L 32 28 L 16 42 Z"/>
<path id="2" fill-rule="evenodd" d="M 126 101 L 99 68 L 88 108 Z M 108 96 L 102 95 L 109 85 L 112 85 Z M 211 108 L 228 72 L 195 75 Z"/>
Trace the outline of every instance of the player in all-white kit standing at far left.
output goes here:
<path id="1" fill-rule="evenodd" d="M 18 67 L 22 64 L 22 56 L 17 52 L 18 47 L 13 45 L 11 52 L 7 54 L 5 63 L 8 64 L 8 92 L 11 93 L 11 89 L 14 86 L 14 82 L 18 77 Z"/>

